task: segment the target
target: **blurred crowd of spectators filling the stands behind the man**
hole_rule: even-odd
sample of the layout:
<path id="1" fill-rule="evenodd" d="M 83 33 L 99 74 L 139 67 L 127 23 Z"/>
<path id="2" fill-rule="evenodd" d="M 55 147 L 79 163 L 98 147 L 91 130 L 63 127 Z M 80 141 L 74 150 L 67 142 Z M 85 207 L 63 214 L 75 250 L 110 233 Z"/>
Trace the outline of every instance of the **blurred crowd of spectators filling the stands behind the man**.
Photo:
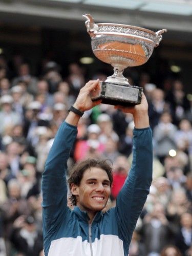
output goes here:
<path id="1" fill-rule="evenodd" d="M 0 256 L 43 256 L 41 174 L 59 125 L 87 81 L 77 63 L 62 77 L 54 61 L 33 76 L 17 57 L 0 56 Z M 92 79 L 105 80 L 100 72 Z M 130 83 L 135 84 L 130 77 Z M 192 255 L 192 98 L 179 79 L 161 87 L 147 73 L 138 86 L 147 97 L 153 130 L 153 182 L 137 222 L 129 256 Z M 131 114 L 100 104 L 84 113 L 68 161 L 106 158 L 114 164 L 115 200 L 129 174 L 134 122 Z"/>

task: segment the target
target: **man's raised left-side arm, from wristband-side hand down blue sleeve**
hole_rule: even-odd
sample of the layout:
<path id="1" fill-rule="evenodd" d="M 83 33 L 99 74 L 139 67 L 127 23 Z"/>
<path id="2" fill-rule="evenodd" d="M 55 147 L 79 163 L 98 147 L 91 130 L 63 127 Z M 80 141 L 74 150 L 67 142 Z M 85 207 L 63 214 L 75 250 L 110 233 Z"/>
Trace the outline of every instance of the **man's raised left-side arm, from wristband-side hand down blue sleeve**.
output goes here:
<path id="1" fill-rule="evenodd" d="M 99 90 L 99 81 L 89 81 L 84 86 L 74 103 L 74 108 L 84 112 L 100 102 L 92 102 L 89 94 Z M 45 171 L 42 174 L 42 207 L 44 234 L 56 228 L 60 219 L 66 217 L 67 207 L 67 160 L 77 135 L 77 124 L 80 116 L 69 112 L 55 136 L 49 152 Z"/>

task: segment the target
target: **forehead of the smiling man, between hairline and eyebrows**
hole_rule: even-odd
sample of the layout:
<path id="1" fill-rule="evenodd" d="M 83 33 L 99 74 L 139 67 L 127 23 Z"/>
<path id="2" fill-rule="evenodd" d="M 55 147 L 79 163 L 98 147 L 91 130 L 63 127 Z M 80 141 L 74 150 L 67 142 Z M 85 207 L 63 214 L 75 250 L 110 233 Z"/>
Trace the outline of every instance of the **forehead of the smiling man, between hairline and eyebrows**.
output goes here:
<path id="1" fill-rule="evenodd" d="M 91 167 L 85 170 L 82 176 L 82 180 L 86 181 L 88 179 L 109 180 L 109 177 L 105 170 L 99 167 Z"/>

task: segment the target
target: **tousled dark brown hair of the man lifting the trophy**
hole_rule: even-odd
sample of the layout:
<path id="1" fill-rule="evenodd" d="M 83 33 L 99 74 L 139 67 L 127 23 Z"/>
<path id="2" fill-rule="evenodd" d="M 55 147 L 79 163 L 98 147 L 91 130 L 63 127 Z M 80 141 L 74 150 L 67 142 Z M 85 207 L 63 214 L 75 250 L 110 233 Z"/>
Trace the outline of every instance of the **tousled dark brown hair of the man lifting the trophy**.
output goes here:
<path id="1" fill-rule="evenodd" d="M 91 167 L 97 167 L 105 170 L 105 172 L 108 174 L 108 177 L 110 180 L 110 186 L 111 186 L 113 182 L 113 169 L 112 169 L 112 164 L 110 165 L 108 162 L 109 160 L 107 159 L 105 160 L 87 159 L 81 162 L 77 162 L 69 173 L 69 179 L 68 179 L 69 187 L 71 188 L 72 183 L 79 186 L 84 172 L 87 169 L 91 169 Z M 71 205 L 77 204 L 76 196 L 71 195 L 69 197 L 69 200 Z"/>

